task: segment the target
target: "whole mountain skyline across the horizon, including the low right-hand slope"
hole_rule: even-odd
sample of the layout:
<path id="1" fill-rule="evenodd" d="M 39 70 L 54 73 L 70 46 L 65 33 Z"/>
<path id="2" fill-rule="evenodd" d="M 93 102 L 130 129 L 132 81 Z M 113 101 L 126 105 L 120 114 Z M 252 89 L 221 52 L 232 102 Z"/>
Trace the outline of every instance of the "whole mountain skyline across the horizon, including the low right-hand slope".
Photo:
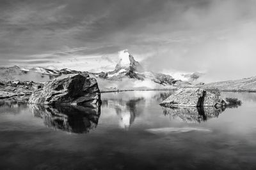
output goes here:
<path id="1" fill-rule="evenodd" d="M 0 67 L 0 81 L 35 81 L 35 82 L 44 82 L 64 76 L 66 74 L 89 74 L 92 77 L 95 77 L 98 81 L 106 80 L 106 83 L 99 83 L 100 88 L 104 89 L 106 84 L 109 82 L 122 82 L 125 80 L 125 83 L 136 83 L 136 82 L 151 82 L 149 86 L 155 84 L 158 88 L 168 88 L 170 86 L 174 87 L 202 87 L 204 89 L 215 89 L 226 91 L 248 91 L 256 92 L 256 77 L 243 78 L 240 80 L 229 80 L 229 81 L 219 81 L 214 83 L 198 83 L 193 85 L 195 80 L 200 78 L 202 73 L 192 73 L 192 74 L 182 74 L 184 78 L 187 78 L 188 81 L 176 80 L 169 74 L 163 73 L 154 73 L 152 71 L 147 71 L 141 66 L 140 62 L 136 61 L 134 57 L 128 52 L 128 50 L 123 50 L 120 52 L 120 60 L 116 64 L 113 71 L 106 71 L 100 73 L 92 73 L 88 71 L 76 71 L 73 69 L 49 69 L 45 67 L 32 67 L 30 69 L 22 68 L 19 66 L 12 67 Z M 127 81 L 128 80 L 128 81 Z M 131 80 L 131 81 L 130 81 Z M 1 83 L 1 82 L 0 82 Z M 109 85 L 111 87 L 111 85 Z M 107 87 L 106 89 L 108 89 Z M 126 89 L 130 88 L 129 84 L 125 87 Z M 112 87 L 111 87 L 112 88 Z M 125 89 L 123 88 L 123 89 Z M 151 89 L 156 88 L 149 87 Z M 120 90 L 118 85 L 113 85 L 114 90 Z M 132 87 L 131 87 L 132 89 Z"/>

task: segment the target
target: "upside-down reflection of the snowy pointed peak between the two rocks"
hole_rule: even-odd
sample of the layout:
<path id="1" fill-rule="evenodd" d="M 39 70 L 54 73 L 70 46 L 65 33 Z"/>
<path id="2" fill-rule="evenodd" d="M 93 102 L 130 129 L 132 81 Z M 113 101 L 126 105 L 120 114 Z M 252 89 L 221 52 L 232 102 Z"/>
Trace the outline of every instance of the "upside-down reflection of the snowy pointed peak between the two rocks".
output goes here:
<path id="1" fill-rule="evenodd" d="M 143 112 L 143 107 L 139 105 L 145 105 L 144 97 L 137 99 L 130 99 L 125 101 L 124 99 L 103 99 L 102 106 L 108 106 L 108 108 L 114 108 L 116 115 L 120 117 L 120 127 L 127 129 L 134 122 L 135 118 Z"/>

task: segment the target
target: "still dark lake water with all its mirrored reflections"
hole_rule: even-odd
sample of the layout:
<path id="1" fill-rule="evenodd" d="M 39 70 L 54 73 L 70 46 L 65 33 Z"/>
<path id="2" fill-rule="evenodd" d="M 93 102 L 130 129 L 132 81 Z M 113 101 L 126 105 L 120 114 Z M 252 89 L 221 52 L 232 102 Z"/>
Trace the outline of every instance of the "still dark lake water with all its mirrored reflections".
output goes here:
<path id="1" fill-rule="evenodd" d="M 0 103 L 0 169 L 256 169 L 256 94 L 171 109 L 168 92 L 102 94 L 101 108 Z"/>

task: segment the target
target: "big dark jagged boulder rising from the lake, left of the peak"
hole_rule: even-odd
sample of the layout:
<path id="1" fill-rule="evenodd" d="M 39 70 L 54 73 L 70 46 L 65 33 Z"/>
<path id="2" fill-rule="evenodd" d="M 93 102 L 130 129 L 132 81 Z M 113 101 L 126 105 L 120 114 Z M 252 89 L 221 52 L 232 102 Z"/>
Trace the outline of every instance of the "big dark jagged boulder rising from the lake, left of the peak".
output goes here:
<path id="1" fill-rule="evenodd" d="M 81 74 L 68 74 L 63 78 L 47 81 L 44 89 L 34 92 L 28 103 L 51 105 L 98 105 L 100 90 L 95 78 Z"/>

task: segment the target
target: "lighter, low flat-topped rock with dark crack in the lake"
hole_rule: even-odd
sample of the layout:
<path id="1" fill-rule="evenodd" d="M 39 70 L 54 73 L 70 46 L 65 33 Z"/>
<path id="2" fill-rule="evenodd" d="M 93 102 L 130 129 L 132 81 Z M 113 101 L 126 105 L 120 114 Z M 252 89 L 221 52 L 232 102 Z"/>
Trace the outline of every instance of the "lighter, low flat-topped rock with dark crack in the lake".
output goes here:
<path id="1" fill-rule="evenodd" d="M 173 107 L 223 106 L 225 105 L 225 101 L 220 99 L 220 95 L 204 89 L 182 88 L 165 99 L 161 105 Z"/>

